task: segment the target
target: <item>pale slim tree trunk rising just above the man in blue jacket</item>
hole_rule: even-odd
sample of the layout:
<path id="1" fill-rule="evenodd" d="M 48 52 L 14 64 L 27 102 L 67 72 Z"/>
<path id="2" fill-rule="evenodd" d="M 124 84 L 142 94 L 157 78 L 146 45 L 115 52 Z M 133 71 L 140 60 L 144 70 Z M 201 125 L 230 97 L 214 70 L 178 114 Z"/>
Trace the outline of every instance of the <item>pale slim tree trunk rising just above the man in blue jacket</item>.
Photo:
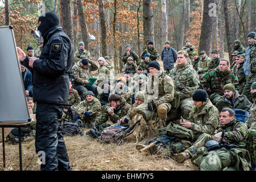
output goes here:
<path id="1" fill-rule="evenodd" d="M 166 40 L 168 40 L 168 22 L 167 22 L 167 13 L 166 13 L 166 0 L 161 0 L 161 45 L 164 45 Z"/>

